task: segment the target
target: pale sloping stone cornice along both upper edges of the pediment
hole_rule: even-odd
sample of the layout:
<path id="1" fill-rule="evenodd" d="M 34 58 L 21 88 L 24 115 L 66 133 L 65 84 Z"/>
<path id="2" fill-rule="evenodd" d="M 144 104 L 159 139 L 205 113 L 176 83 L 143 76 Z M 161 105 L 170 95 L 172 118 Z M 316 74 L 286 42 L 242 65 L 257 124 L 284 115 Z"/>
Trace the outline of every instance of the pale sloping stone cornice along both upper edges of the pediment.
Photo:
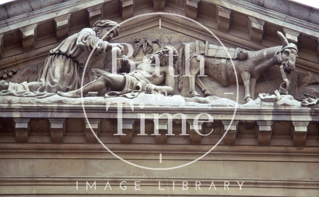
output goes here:
<path id="1" fill-rule="evenodd" d="M 74 10 L 92 7 L 111 0 L 70 0 L 56 5 L 48 6 L 30 13 L 18 15 L 0 21 L 0 34 L 25 26 L 43 21 L 43 18 L 50 19 L 64 14 L 73 12 Z M 313 37 L 319 37 L 319 25 L 300 20 L 279 12 L 275 12 L 255 4 L 243 0 L 202 0 L 206 3 L 213 3 L 218 6 L 227 7 L 246 15 L 256 18 L 263 18 L 266 22 L 277 24 L 286 28 L 295 29 L 296 31 L 305 33 Z M 57 12 L 58 11 L 58 12 Z M 57 12 L 57 13 L 55 13 Z M 45 16 L 44 16 L 45 15 Z M 306 28 L 306 29 L 305 29 Z"/>

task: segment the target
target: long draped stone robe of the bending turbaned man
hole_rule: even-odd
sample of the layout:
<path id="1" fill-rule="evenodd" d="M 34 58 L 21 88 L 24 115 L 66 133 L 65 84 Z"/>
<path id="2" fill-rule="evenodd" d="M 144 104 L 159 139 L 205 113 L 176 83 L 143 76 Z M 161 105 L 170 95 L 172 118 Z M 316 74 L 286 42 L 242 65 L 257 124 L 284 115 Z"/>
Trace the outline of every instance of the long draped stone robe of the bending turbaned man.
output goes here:
<path id="1" fill-rule="evenodd" d="M 37 77 L 37 82 L 39 83 L 37 90 L 25 87 L 25 83 L 20 86 L 18 84 L 10 84 L 9 89 L 1 91 L 0 95 L 43 98 L 51 96 L 57 91 L 69 92 L 77 90 L 81 86 L 83 68 L 94 48 L 95 50 L 85 70 L 83 85 L 96 78 L 96 76 L 88 76 L 87 73 L 100 75 L 103 72 L 103 70 L 96 68 L 103 67 L 107 44 L 107 41 L 96 37 L 95 31 L 91 28 L 84 28 L 79 33 L 63 40 L 56 48 L 50 50 L 43 69 Z M 23 89 L 23 87 L 25 88 Z"/>

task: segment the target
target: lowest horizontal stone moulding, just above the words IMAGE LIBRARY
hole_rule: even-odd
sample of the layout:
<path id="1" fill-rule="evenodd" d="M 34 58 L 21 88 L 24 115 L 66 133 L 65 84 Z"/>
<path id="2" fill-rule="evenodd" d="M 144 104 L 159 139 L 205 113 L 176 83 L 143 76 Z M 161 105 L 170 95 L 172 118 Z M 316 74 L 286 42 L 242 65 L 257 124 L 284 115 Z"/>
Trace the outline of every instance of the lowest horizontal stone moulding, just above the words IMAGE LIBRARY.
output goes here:
<path id="1" fill-rule="evenodd" d="M 123 180 L 127 180 L 127 184 L 134 185 L 134 181 L 139 180 L 142 183 L 144 183 L 145 186 L 154 186 L 157 187 L 159 181 L 162 183 L 166 183 L 167 179 L 161 178 L 161 177 L 156 177 L 156 178 L 146 178 L 146 177 L 116 177 L 116 176 L 108 176 L 108 179 L 110 182 L 114 184 L 113 186 L 119 186 L 120 182 Z M 224 181 L 225 179 L 221 178 L 212 178 L 212 179 L 207 179 L 207 178 L 192 178 L 189 179 L 187 177 L 178 177 L 178 178 L 173 178 L 171 181 L 176 182 L 176 187 L 180 187 L 182 181 L 187 181 L 189 183 L 190 187 L 194 187 L 194 182 L 195 181 L 200 181 L 202 183 L 202 187 L 209 187 L 211 182 L 213 181 L 216 187 L 224 187 Z M 236 181 L 243 181 L 243 179 L 228 179 L 230 182 L 235 182 Z M 43 177 L 32 177 L 32 178 L 8 178 L 4 177 L 1 178 L 0 180 L 0 185 L 7 185 L 7 183 L 10 184 L 16 184 L 19 186 L 23 185 L 29 185 L 29 184 L 34 184 L 34 185 L 75 185 L 75 182 L 78 181 L 79 187 L 85 187 L 86 181 L 93 183 L 94 181 L 97 182 L 97 187 L 102 187 L 102 189 L 105 187 L 105 183 L 108 181 L 106 178 L 101 178 L 101 177 L 96 177 L 96 178 L 88 178 L 88 177 L 49 177 L 49 178 L 43 178 Z M 247 179 L 245 178 L 245 184 L 244 186 L 246 187 L 255 187 L 255 188 L 264 188 L 264 187 L 275 187 L 275 188 L 291 188 L 291 189 L 317 189 L 319 186 L 319 180 L 303 180 L 303 179 L 293 179 L 287 180 L 285 179 L 279 179 L 279 180 L 266 180 L 266 179 Z M 179 183 L 177 183 L 179 182 Z M 29 183 L 29 184 L 28 184 Z M 167 186 L 167 184 L 164 184 Z M 73 186 L 74 187 L 74 186 Z"/>

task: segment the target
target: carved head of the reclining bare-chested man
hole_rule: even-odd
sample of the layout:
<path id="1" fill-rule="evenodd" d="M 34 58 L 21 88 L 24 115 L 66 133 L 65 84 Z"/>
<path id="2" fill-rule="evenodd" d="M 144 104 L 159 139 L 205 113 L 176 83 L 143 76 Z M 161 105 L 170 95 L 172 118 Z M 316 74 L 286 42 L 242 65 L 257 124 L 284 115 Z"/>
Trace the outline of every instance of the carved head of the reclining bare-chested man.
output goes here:
<path id="1" fill-rule="evenodd" d="M 152 63 L 155 63 L 156 56 L 158 56 L 160 59 L 160 66 L 169 65 L 170 55 L 172 56 L 171 58 L 173 58 L 172 66 L 175 66 L 178 60 L 178 52 L 173 46 L 170 45 L 167 45 L 162 50 L 155 52 L 151 59 Z"/>

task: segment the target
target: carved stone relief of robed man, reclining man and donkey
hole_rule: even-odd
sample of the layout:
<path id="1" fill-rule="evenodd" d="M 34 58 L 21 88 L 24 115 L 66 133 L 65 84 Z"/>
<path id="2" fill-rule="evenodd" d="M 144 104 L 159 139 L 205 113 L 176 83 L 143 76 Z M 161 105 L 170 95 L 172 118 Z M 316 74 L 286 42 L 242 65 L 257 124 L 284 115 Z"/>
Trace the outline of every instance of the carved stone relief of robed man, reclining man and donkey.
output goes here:
<path id="1" fill-rule="evenodd" d="M 44 63 L 44 69 L 41 71 L 41 73 L 38 74 L 37 80 L 35 82 L 29 82 L 26 84 L 28 88 L 24 91 L 32 92 L 32 94 L 26 94 L 26 95 L 23 95 L 22 97 L 43 98 L 43 97 L 49 97 L 56 93 L 64 97 L 73 97 L 73 98 L 79 97 L 79 94 L 78 94 L 79 93 L 78 88 L 80 88 L 79 78 L 82 75 L 86 58 L 88 57 L 88 54 L 90 53 L 90 50 L 92 50 L 92 48 L 90 48 L 90 46 L 87 46 L 85 44 L 83 44 L 83 46 L 80 46 L 82 47 L 82 49 L 85 49 L 84 51 L 86 51 L 85 52 L 86 54 L 84 56 L 82 55 L 82 57 L 84 57 L 84 59 L 82 58 L 83 59 L 82 60 L 81 58 L 77 58 L 76 56 L 72 57 L 72 53 L 70 53 L 70 55 L 67 55 L 68 51 L 63 52 L 63 47 L 71 46 L 72 42 L 74 42 L 73 40 L 81 39 L 82 34 L 90 35 L 91 36 L 90 42 L 92 42 L 92 44 L 98 43 L 97 51 L 93 53 L 93 57 L 91 57 L 92 61 L 88 65 L 88 68 L 85 73 L 84 85 L 87 84 L 86 87 L 89 87 L 86 91 L 84 91 L 85 93 L 98 91 L 99 96 L 106 96 L 106 97 L 123 96 L 123 95 L 128 96 L 129 94 L 128 98 L 135 98 L 137 96 L 134 94 L 135 91 L 136 93 L 140 93 L 140 92 L 152 93 L 154 90 L 158 90 L 158 92 L 160 92 L 163 89 L 165 91 L 168 90 L 169 94 L 167 95 L 182 95 L 186 98 L 195 97 L 192 99 L 185 99 L 188 101 L 209 102 L 209 101 L 212 101 L 212 99 L 209 98 L 208 96 L 223 97 L 221 95 L 222 93 L 225 93 L 226 90 L 228 90 L 227 92 L 234 92 L 235 90 L 235 84 L 236 84 L 235 73 L 234 73 L 234 69 L 232 68 L 230 58 L 234 62 L 237 76 L 238 76 L 238 82 L 240 84 L 240 87 L 239 87 L 240 89 L 239 102 L 240 103 L 244 102 L 243 98 L 246 101 L 252 101 L 253 99 L 255 99 L 255 95 L 258 93 L 274 93 L 276 89 L 280 90 L 279 85 L 284 81 L 283 78 L 285 78 L 284 77 L 285 75 L 286 76 L 288 75 L 288 77 L 282 87 L 287 89 L 289 88 L 289 85 L 290 85 L 290 89 L 291 89 L 291 92 L 289 92 L 290 94 L 293 94 L 293 95 L 296 94 L 296 90 L 295 90 L 296 88 L 297 89 L 302 88 L 304 90 L 303 93 L 301 93 L 301 91 L 298 91 L 298 96 L 299 96 L 298 98 L 302 97 L 301 94 L 306 94 L 306 93 L 317 94 L 318 93 L 317 88 L 312 88 L 312 86 L 317 85 L 316 80 L 318 77 L 316 75 L 312 76 L 312 73 L 306 74 L 305 76 L 306 78 L 311 78 L 312 81 L 314 81 L 314 82 L 309 82 L 308 80 L 303 79 L 303 76 L 305 75 L 305 73 L 298 72 L 296 74 L 293 72 L 293 70 L 295 69 L 295 61 L 297 58 L 298 49 L 295 44 L 289 43 L 287 38 L 281 32 L 278 32 L 278 35 L 282 41 L 282 46 L 266 48 L 260 51 L 243 50 L 241 48 L 236 48 L 236 46 L 234 46 L 233 44 L 229 44 L 226 42 L 225 45 L 227 47 L 227 51 L 230 54 L 230 57 L 228 57 L 224 48 L 216 45 L 217 44 L 216 41 L 196 40 L 187 35 L 181 35 L 178 32 L 174 32 L 173 30 L 169 30 L 165 28 L 162 28 L 163 33 L 160 33 L 160 34 L 158 33 L 156 28 L 151 28 L 151 29 L 144 30 L 142 33 L 140 32 L 139 34 L 131 34 L 129 36 L 113 41 L 112 43 L 108 43 L 107 40 L 110 41 L 112 37 L 116 37 L 119 34 L 119 28 L 116 28 L 116 30 L 114 30 L 112 35 L 107 36 L 105 40 L 102 40 L 99 42 L 101 35 L 105 33 L 104 30 L 109 30 L 111 27 L 114 27 L 116 25 L 117 25 L 116 22 L 109 21 L 109 20 L 98 21 L 93 28 L 85 28 L 82 31 L 80 31 L 78 34 L 71 35 L 68 38 L 66 38 L 64 41 L 62 41 L 57 48 L 50 51 L 51 55 L 49 56 L 49 58 L 47 58 L 46 62 Z M 141 38 L 141 35 L 143 38 Z M 189 40 L 194 40 L 194 41 L 189 42 Z M 123 47 L 121 44 L 116 44 L 116 42 L 133 44 L 133 48 L 134 48 L 133 57 L 129 57 L 129 60 L 134 61 L 136 63 L 137 71 L 135 72 L 130 71 L 130 68 L 129 68 L 130 66 L 128 64 L 129 61 L 127 59 L 127 60 L 118 61 L 117 63 L 118 71 L 124 74 L 121 74 L 118 76 L 116 76 L 115 74 L 110 74 L 110 72 L 112 71 L 112 68 L 111 68 L 112 47 L 118 48 L 119 56 L 125 55 L 128 52 L 126 47 Z M 186 42 L 189 43 L 188 47 L 190 50 L 190 57 L 193 57 L 193 58 L 189 60 L 190 76 L 181 77 L 185 75 L 185 60 L 186 60 L 186 57 L 185 57 L 186 45 L 183 45 L 181 43 L 186 43 Z M 160 48 L 161 45 L 164 45 L 166 47 Z M 163 80 L 160 80 L 161 81 L 160 83 L 155 82 L 156 80 L 152 81 L 153 79 L 152 80 L 146 79 L 146 81 L 144 81 L 145 76 L 141 74 L 140 72 L 143 70 L 141 69 L 141 67 L 143 67 L 143 64 L 151 64 L 152 62 L 154 62 L 154 60 L 152 60 L 152 58 L 149 58 L 146 60 L 146 62 L 143 62 L 142 61 L 143 56 L 149 55 L 152 51 L 155 51 L 155 49 L 157 49 L 156 50 L 157 52 L 155 52 L 154 54 L 164 55 L 168 51 L 168 48 L 174 51 L 174 53 L 176 53 L 176 55 L 178 56 L 178 60 L 174 60 L 174 72 L 175 74 L 179 74 L 179 77 L 175 77 L 172 80 L 168 80 L 168 82 L 166 80 L 165 83 L 163 83 Z M 76 48 L 74 48 L 74 50 L 76 51 Z M 142 51 L 143 54 L 138 55 L 139 51 L 140 52 Z M 201 56 L 204 57 L 203 69 L 204 69 L 205 75 L 207 75 L 208 78 L 200 77 L 199 71 L 200 71 Z M 65 59 L 66 57 L 71 57 L 71 59 L 70 60 Z M 162 66 L 166 66 L 165 64 L 167 62 L 165 61 L 167 60 L 163 57 L 164 56 L 160 58 L 160 63 Z M 67 67 L 72 68 L 71 69 L 73 70 L 72 72 L 75 73 L 76 75 L 75 77 L 64 76 L 63 79 L 62 78 L 60 79 L 60 81 L 63 80 L 63 83 L 58 83 L 57 87 L 54 84 L 53 85 L 51 84 L 49 86 L 53 89 L 51 88 L 43 89 L 43 87 L 46 87 L 46 85 L 43 85 L 43 84 L 47 84 L 47 83 L 50 84 L 51 82 L 57 80 L 53 77 L 52 79 L 45 81 L 45 79 L 48 79 L 45 76 L 52 77 L 52 75 L 49 75 L 50 71 L 47 69 L 49 67 L 45 65 L 55 64 L 55 61 L 63 62 L 63 64 L 68 62 L 67 65 L 69 66 Z M 58 67 L 61 67 L 61 63 L 57 63 L 56 65 Z M 281 69 L 279 67 L 272 67 L 274 65 L 281 65 Z M 274 80 L 269 81 L 268 75 L 265 75 L 265 73 L 269 72 L 269 70 L 271 70 L 271 72 L 275 76 L 277 76 L 277 77 L 274 77 Z M 62 73 L 64 72 L 63 69 L 61 70 L 61 72 Z M 115 75 L 115 77 L 113 77 L 112 75 Z M 42 80 L 41 80 L 41 77 L 42 77 Z M 121 78 L 121 80 L 119 80 L 118 78 Z M 259 78 L 260 78 L 259 81 L 261 83 L 269 84 L 269 87 L 271 87 L 272 89 L 271 90 L 269 88 L 263 89 L 262 87 L 260 87 L 259 81 L 258 81 Z M 296 85 L 296 82 L 292 82 L 292 80 L 295 80 L 296 78 L 298 80 L 297 85 Z M 68 80 L 71 79 L 71 81 L 68 81 L 66 79 Z M 93 80 L 97 80 L 98 82 L 101 82 L 102 84 L 101 87 L 97 88 L 96 86 L 94 86 L 92 83 Z M 267 80 L 267 82 L 265 80 Z M 16 82 L 16 80 L 13 80 L 13 81 Z M 22 83 L 22 82 L 20 81 L 19 83 Z M 114 85 L 112 85 L 112 83 Z M 21 86 L 24 87 L 23 85 Z M 14 87 L 14 83 L 11 83 L 11 87 Z M 15 87 L 18 87 L 18 86 L 15 86 Z M 5 95 L 18 96 L 17 93 L 12 94 L 10 93 L 9 90 L 6 90 L 9 88 L 9 83 L 1 81 L 1 88 L 3 90 L 1 92 L 2 96 L 5 96 Z M 15 89 L 20 90 L 20 88 L 18 89 L 15 88 Z M 307 92 L 308 89 L 310 90 L 310 92 Z M 41 93 L 41 94 L 37 94 L 37 93 Z M 203 99 L 197 98 L 199 96 L 204 96 L 207 98 L 203 98 Z M 235 100 L 234 96 L 233 97 L 231 96 L 228 98 Z M 263 99 L 263 98 L 260 98 L 260 99 Z"/>

